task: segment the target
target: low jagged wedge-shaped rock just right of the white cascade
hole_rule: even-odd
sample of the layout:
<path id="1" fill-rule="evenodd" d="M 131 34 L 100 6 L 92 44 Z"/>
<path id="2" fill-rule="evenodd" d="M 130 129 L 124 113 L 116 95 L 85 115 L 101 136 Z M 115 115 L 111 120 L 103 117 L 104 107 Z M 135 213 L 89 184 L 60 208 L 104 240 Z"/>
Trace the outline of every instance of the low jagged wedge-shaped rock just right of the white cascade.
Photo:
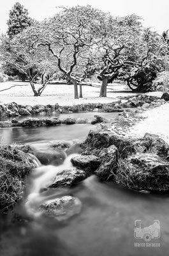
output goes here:
<path id="1" fill-rule="evenodd" d="M 55 178 L 50 184 L 50 188 L 73 186 L 77 182 L 80 182 L 87 178 L 89 173 L 82 171 L 76 167 L 70 168 L 69 170 L 62 170 L 57 172 Z"/>

